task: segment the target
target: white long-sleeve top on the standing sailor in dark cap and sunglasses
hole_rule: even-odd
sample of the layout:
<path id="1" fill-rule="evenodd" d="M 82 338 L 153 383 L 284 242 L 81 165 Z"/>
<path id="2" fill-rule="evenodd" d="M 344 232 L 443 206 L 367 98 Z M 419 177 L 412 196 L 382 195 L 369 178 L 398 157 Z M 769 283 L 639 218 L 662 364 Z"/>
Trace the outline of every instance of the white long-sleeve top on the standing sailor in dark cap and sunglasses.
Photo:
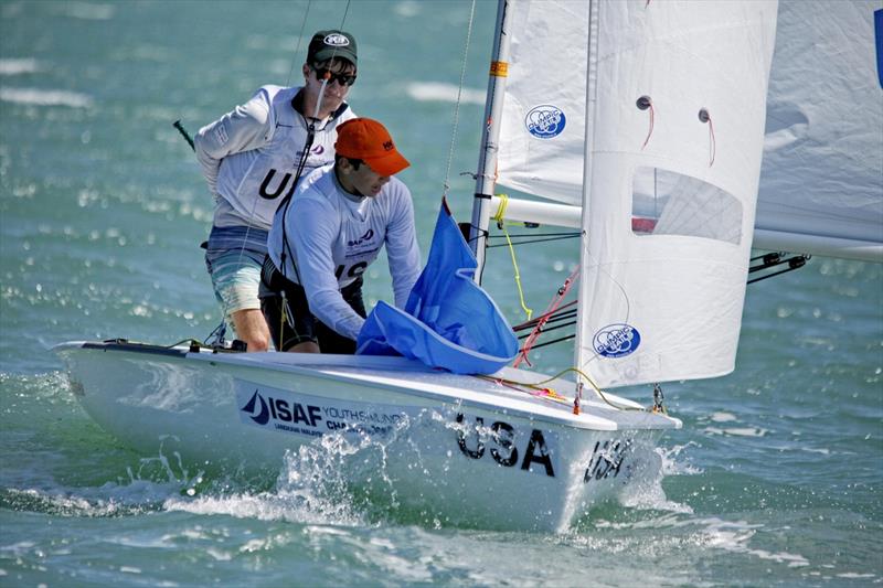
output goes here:
<path id="1" fill-rule="evenodd" d="M 214 226 L 269 231 L 283 197 L 294 190 L 308 122 L 291 100 L 299 87 L 263 86 L 196 133 L 194 147 L 209 189 L 215 195 Z M 316 125 L 304 177 L 334 160 L 337 126 L 355 115 L 345 103 Z"/>

